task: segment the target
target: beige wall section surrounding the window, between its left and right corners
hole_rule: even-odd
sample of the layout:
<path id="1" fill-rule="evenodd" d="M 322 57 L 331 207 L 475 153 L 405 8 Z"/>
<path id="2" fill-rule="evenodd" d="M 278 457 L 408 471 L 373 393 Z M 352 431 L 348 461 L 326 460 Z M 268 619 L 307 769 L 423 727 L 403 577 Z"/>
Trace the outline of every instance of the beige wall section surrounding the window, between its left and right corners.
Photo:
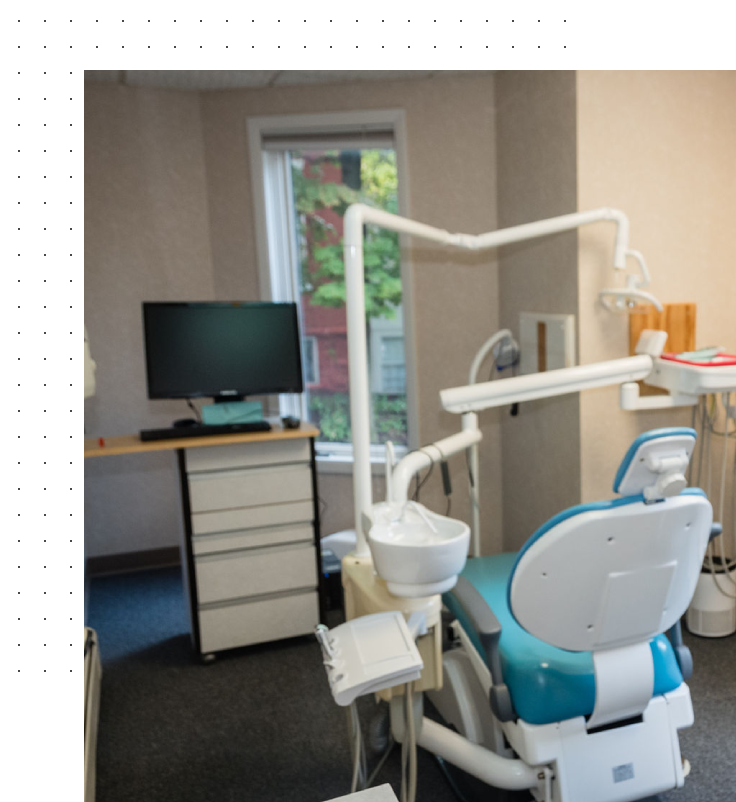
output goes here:
<path id="1" fill-rule="evenodd" d="M 469 233 L 496 227 L 494 90 L 492 76 L 442 76 L 202 95 L 210 225 L 218 295 L 257 297 L 258 271 L 252 180 L 246 140 L 249 116 L 403 108 L 408 139 L 409 214 Z M 459 429 L 440 410 L 438 392 L 464 384 L 475 351 L 498 328 L 496 255 L 463 255 L 417 243 L 410 250 L 415 298 L 419 439 L 429 442 Z M 485 550 L 501 543 L 498 416 L 482 423 Z M 469 519 L 464 460 L 453 464 L 453 515 Z M 352 483 L 322 474 L 328 504 L 323 532 L 352 528 Z M 423 500 L 444 510 L 439 471 Z"/>

